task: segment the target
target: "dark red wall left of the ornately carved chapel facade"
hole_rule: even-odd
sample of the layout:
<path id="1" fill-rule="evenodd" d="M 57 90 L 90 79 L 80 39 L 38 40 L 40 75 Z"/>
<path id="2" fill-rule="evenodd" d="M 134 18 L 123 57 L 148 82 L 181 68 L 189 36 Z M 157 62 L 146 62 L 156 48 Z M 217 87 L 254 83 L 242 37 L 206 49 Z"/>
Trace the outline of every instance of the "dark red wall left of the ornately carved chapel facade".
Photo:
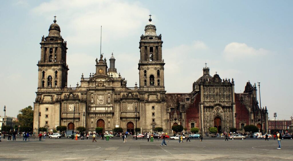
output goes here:
<path id="1" fill-rule="evenodd" d="M 194 97 L 194 102 L 190 104 L 190 106 L 186 109 L 186 128 L 190 129 L 190 121 L 194 120 L 195 127 L 199 128 L 200 120 L 199 120 L 199 113 L 200 113 L 200 93 L 196 94 Z"/>

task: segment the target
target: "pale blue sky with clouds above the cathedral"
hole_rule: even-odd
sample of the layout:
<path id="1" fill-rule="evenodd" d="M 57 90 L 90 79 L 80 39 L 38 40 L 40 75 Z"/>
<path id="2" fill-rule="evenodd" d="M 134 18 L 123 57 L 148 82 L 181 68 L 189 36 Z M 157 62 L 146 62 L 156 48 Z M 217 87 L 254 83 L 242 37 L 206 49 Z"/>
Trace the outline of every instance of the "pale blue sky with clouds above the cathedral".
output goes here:
<path id="1" fill-rule="evenodd" d="M 40 42 L 56 15 L 67 41 L 68 86 L 95 71 L 102 48 L 116 59 L 127 87 L 139 82 L 139 40 L 149 14 L 162 34 L 167 93 L 190 93 L 203 75 L 234 78 L 235 92 L 260 81 L 269 119 L 289 119 L 292 98 L 293 1 L 13 0 L 0 6 L 0 109 L 16 117 L 33 106 L 38 86 Z M 108 62 L 109 63 L 109 62 Z M 80 83 L 79 83 L 80 84 Z M 258 90 L 259 92 L 259 90 Z M 259 93 L 257 96 L 259 101 Z M 2 107 L 1 107 L 2 106 Z M 4 111 L 0 110 L 4 116 Z"/>

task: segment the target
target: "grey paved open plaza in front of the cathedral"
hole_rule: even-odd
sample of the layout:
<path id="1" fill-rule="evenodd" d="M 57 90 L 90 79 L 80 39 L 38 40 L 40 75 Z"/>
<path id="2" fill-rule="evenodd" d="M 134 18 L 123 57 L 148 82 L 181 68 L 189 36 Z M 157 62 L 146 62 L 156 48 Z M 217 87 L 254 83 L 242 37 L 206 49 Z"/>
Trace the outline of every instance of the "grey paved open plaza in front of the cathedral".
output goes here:
<path id="1" fill-rule="evenodd" d="M 270 139 L 229 140 L 204 138 L 191 142 L 166 139 L 147 142 L 146 139 L 121 138 L 110 141 L 71 140 L 68 138 L 38 141 L 0 142 L 0 160 L 293 160 L 293 140 L 282 140 L 278 150 L 277 141 Z"/>

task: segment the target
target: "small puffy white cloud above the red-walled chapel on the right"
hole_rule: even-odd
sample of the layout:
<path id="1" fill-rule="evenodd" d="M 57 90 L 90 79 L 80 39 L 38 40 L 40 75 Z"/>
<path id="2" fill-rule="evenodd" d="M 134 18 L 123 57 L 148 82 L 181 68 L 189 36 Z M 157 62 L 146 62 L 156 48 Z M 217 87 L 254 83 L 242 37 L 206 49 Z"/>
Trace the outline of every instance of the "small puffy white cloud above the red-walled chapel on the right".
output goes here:
<path id="1" fill-rule="evenodd" d="M 245 43 L 231 42 L 226 45 L 223 53 L 225 59 L 232 61 L 235 59 L 251 59 L 252 56 L 263 56 L 268 54 L 269 51 L 263 48 L 254 49 L 253 47 L 247 46 Z"/>

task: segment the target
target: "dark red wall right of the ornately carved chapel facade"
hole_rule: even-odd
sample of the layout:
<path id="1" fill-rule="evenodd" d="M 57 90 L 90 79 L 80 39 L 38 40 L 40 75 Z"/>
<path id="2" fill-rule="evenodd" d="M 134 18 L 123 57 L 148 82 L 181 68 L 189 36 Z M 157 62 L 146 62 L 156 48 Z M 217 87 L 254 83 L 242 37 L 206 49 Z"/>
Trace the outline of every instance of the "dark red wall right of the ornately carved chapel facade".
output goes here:
<path id="1" fill-rule="evenodd" d="M 235 93 L 235 103 L 236 103 L 236 125 L 237 129 L 241 128 L 241 124 L 243 121 L 246 123 L 246 125 L 249 125 L 249 111 L 246 109 L 245 105 L 241 103 L 240 101 L 240 94 Z"/>

